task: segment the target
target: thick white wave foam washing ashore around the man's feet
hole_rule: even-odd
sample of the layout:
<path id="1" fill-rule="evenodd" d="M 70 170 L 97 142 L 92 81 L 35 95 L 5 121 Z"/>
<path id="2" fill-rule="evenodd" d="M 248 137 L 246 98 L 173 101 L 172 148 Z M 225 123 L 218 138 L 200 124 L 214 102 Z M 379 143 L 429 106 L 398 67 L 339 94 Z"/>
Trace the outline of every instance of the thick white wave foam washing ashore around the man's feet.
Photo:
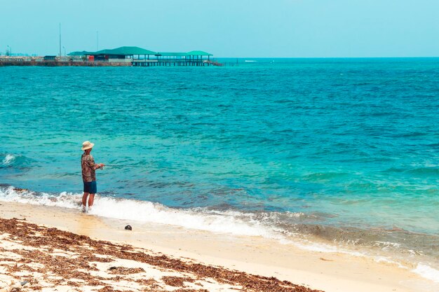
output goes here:
<path id="1" fill-rule="evenodd" d="M 17 192 L 10 187 L 0 189 L 0 200 L 79 209 L 81 194 L 63 192 L 53 196 L 32 191 Z M 275 239 L 283 237 L 271 230 L 269 226 L 250 217 L 241 216 L 241 218 L 238 218 L 238 215 L 243 214 L 236 211 L 219 213 L 208 210 L 203 211 L 199 208 L 182 210 L 165 207 L 162 204 L 153 202 L 97 197 L 91 214 L 124 220 L 177 225 L 184 228 L 234 235 L 262 236 Z"/>

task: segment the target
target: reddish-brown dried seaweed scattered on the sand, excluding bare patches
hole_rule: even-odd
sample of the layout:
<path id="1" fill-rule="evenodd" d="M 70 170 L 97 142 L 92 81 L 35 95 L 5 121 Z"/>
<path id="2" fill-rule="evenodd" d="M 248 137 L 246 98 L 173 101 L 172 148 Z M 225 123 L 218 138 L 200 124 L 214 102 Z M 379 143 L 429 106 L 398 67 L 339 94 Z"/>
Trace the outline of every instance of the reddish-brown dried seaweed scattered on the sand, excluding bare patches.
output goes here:
<path id="1" fill-rule="evenodd" d="M 46 284 L 66 285 L 79 291 L 81 291 L 81 286 L 95 286 L 95 291 L 101 292 L 118 291 L 118 288 L 123 287 L 121 284 L 123 282 L 142 287 L 142 291 L 169 291 L 169 289 L 166 290 L 166 286 L 170 286 L 178 287 L 177 290 L 173 288 L 173 291 L 205 292 L 208 290 L 195 287 L 203 286 L 203 283 L 214 280 L 218 284 L 233 286 L 234 291 L 321 292 L 292 284 L 290 281 L 281 281 L 275 277 L 263 277 L 224 267 L 213 267 L 170 256 L 157 255 L 152 251 L 134 248 L 130 245 L 90 239 L 84 235 L 76 235 L 57 228 L 46 228 L 16 218 L 0 218 L 0 231 L 11 242 L 27 247 L 27 249 L 8 250 L 8 252 L 20 256 L 18 259 L 1 258 L 0 261 L 3 263 L 11 262 L 4 265 L 8 273 L 36 272 L 43 275 L 41 281 L 46 282 Z M 0 250 L 2 253 L 6 251 L 3 248 Z M 142 276 L 143 278 L 134 279 L 135 275 L 145 274 L 145 270 L 142 267 L 121 266 L 107 268 L 108 274 L 112 275 L 111 278 L 95 274 L 99 271 L 97 265 L 109 265 L 116 259 L 133 260 L 158 270 L 180 272 L 180 274 L 191 274 L 192 276 L 166 276 L 159 280 Z M 22 278 L 18 280 L 22 281 Z M 117 283 L 118 288 L 109 284 L 109 280 Z M 43 284 L 32 277 L 27 277 L 27 281 L 28 283 L 22 287 L 21 291 L 38 291 L 43 288 Z M 192 286 L 188 286 L 191 284 Z"/>

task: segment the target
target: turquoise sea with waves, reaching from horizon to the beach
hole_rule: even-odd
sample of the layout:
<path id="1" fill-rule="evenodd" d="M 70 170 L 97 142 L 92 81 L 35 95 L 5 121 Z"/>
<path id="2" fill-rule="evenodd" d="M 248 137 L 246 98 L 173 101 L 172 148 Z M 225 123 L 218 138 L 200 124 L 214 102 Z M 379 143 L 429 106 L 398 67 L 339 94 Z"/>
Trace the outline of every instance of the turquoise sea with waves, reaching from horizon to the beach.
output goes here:
<path id="1" fill-rule="evenodd" d="M 0 200 L 79 209 L 90 140 L 108 165 L 98 216 L 360 252 L 439 281 L 439 59 L 219 61 L 1 67 Z"/>

